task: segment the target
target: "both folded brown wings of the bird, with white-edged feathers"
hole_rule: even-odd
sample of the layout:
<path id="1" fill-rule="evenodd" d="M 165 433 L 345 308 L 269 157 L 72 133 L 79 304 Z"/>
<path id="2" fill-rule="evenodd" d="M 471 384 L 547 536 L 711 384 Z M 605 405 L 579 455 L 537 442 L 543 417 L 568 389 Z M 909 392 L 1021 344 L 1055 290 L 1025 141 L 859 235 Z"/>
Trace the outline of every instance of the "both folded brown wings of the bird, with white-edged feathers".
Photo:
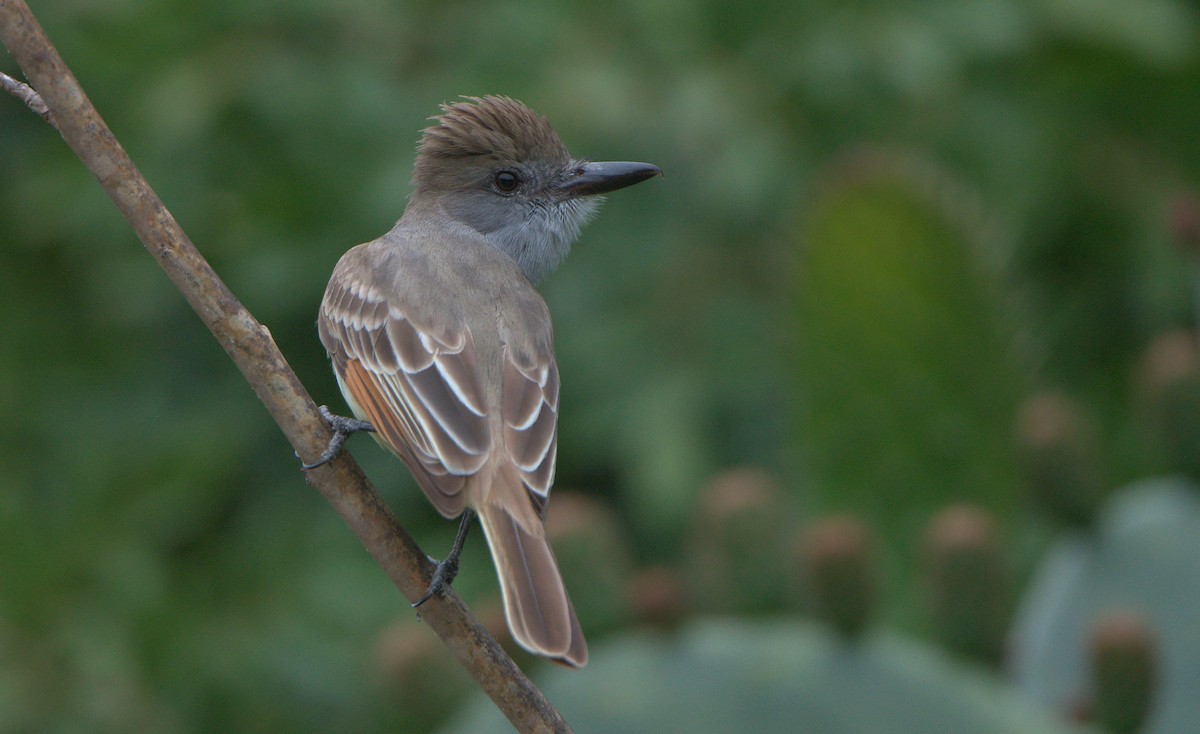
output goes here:
<path id="1" fill-rule="evenodd" d="M 505 331 L 499 411 L 492 435 L 474 339 L 466 325 L 421 327 L 379 289 L 335 272 L 319 330 L 355 413 L 408 464 L 445 516 L 463 509 L 466 477 L 503 447 L 540 515 L 554 481 L 558 449 L 558 366 L 548 314 L 536 300 L 522 329 Z M 521 335 L 521 338 L 517 338 Z M 530 338 L 532 335 L 532 338 Z"/>

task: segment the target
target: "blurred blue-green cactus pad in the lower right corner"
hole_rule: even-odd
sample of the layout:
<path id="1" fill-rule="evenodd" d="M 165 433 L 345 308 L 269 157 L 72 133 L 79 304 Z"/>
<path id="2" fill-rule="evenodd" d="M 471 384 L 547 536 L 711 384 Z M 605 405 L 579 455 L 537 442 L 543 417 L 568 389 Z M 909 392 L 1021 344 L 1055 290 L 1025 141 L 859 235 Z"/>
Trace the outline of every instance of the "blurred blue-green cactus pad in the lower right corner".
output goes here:
<path id="1" fill-rule="evenodd" d="M 1097 700 L 1088 642 L 1097 622 L 1116 613 L 1144 620 L 1157 648 L 1148 651 L 1157 670 L 1138 730 L 1196 732 L 1200 488 L 1192 482 L 1138 482 L 1114 495 L 1090 533 L 1058 541 L 1016 615 L 1010 644 L 1016 684 L 1058 710 L 1104 712 L 1111 702 Z"/>

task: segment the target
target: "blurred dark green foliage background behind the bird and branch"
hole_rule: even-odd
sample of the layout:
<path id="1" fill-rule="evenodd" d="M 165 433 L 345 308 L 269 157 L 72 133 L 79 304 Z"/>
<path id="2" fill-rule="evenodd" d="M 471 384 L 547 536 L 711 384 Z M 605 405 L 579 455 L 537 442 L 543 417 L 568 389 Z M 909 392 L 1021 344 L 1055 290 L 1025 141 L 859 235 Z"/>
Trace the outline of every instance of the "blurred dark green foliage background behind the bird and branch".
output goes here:
<path id="1" fill-rule="evenodd" d="M 1178 336 L 1195 327 L 1200 253 L 1194 1 L 35 12 L 338 410 L 317 305 L 341 253 L 402 212 L 440 102 L 509 95 L 576 156 L 662 167 L 612 195 L 542 287 L 563 377 L 552 530 L 607 534 L 604 553 L 560 549 L 594 646 L 662 609 L 808 614 L 787 549 L 835 512 L 878 539 L 882 625 L 936 637 L 918 577 L 938 510 L 995 518 L 1009 614 L 1061 528 L 1114 488 L 1200 475 L 1198 434 L 1156 423 L 1162 369 L 1147 367 L 1162 335 L 1184 362 L 1194 349 Z M 0 70 L 19 78 L 11 58 Z M 0 730 L 421 732 L 452 712 L 464 676 L 304 483 L 96 182 L 13 98 L 0 319 Z M 1046 390 L 1085 426 L 1067 470 L 1082 489 L 1052 481 L 1068 495 L 1031 501 L 1020 457 L 1036 429 L 1015 426 Z M 444 553 L 454 525 L 371 441 L 350 446 Z M 738 501 L 769 504 L 752 533 L 779 543 L 730 584 L 710 578 L 727 559 L 706 556 L 706 523 Z M 456 588 L 496 618 L 481 546 Z M 644 602 L 664 579 L 686 584 Z"/>

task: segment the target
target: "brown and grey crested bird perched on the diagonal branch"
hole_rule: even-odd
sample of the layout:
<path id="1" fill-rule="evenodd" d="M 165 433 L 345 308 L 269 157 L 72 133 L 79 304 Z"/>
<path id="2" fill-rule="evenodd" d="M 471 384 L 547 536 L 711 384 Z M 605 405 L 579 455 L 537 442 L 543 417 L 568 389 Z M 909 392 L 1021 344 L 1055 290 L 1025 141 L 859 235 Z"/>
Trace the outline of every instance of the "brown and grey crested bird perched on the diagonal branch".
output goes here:
<path id="1" fill-rule="evenodd" d="M 440 106 L 421 131 L 412 194 L 395 227 L 334 269 L 320 341 L 354 419 L 434 509 L 461 517 L 419 606 L 457 572 L 475 516 L 512 639 L 569 667 L 587 642 L 546 537 L 558 449 L 559 373 L 536 284 L 566 257 L 604 194 L 658 166 L 571 157 L 545 116 L 506 96 Z"/>

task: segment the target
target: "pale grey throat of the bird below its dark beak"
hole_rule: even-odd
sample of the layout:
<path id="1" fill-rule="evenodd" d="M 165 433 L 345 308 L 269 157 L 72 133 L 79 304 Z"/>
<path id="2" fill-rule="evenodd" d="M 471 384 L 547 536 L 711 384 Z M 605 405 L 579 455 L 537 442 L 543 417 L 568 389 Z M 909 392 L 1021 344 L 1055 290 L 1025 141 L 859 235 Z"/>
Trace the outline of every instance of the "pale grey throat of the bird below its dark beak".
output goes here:
<path id="1" fill-rule="evenodd" d="M 493 247 L 517 261 L 533 284 L 554 271 L 580 236 L 583 225 L 595 216 L 604 197 L 580 197 L 558 200 L 529 200 L 526 216 L 484 236 Z"/>

